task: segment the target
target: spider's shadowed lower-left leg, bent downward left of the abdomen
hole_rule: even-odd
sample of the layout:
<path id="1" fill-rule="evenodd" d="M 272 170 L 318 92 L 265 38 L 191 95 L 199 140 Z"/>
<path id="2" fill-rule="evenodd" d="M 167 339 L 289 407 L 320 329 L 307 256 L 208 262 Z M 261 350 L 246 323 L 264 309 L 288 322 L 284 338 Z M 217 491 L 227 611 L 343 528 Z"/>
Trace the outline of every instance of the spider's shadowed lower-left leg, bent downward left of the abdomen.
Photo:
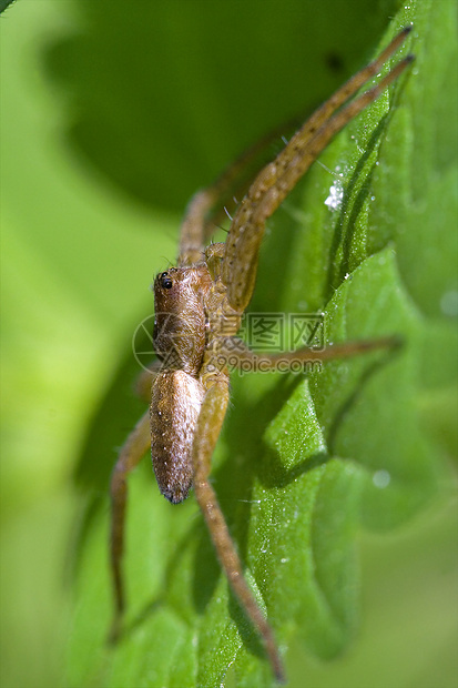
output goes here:
<path id="1" fill-rule="evenodd" d="M 111 476 L 111 573 L 114 589 L 114 619 L 110 639 L 116 640 L 120 634 L 121 617 L 124 610 L 124 586 L 121 560 L 124 549 L 124 520 L 128 499 L 126 477 L 135 468 L 150 448 L 150 412 L 135 425 L 125 441 Z"/>

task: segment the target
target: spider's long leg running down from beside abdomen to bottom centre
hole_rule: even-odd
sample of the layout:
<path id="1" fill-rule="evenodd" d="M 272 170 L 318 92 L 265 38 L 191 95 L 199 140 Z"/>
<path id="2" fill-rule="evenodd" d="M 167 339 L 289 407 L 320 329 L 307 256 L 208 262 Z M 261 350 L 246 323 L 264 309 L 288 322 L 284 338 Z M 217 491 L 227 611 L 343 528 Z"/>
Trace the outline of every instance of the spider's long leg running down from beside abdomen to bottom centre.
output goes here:
<path id="1" fill-rule="evenodd" d="M 284 671 L 274 635 L 246 584 L 241 559 L 235 550 L 215 492 L 208 483 L 212 454 L 224 421 L 227 401 L 227 384 L 217 382 L 210 387 L 203 401 L 193 443 L 194 490 L 221 566 L 248 618 L 262 636 L 275 676 L 282 681 Z"/>

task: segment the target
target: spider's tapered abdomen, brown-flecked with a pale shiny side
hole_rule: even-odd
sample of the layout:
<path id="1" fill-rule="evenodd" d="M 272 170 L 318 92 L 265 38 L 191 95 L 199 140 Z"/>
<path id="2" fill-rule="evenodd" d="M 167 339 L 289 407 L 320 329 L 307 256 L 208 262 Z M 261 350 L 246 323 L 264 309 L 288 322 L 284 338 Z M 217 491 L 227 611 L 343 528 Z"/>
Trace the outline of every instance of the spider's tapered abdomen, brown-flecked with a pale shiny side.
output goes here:
<path id="1" fill-rule="evenodd" d="M 184 371 L 160 373 L 151 406 L 151 456 L 161 493 L 173 504 L 192 486 L 192 442 L 204 397 L 202 383 Z"/>

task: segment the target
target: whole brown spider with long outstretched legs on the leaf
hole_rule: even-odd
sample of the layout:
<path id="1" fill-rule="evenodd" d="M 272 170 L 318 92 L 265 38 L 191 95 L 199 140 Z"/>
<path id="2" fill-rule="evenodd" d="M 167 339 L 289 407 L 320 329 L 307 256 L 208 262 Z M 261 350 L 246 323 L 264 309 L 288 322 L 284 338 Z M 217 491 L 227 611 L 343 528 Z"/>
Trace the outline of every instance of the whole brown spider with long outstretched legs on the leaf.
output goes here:
<path id="1" fill-rule="evenodd" d="M 325 361 L 393 344 L 385 338 L 346 343 L 324 351 L 301 348 L 287 354 L 257 355 L 235 335 L 255 287 L 266 220 L 334 135 L 411 62 L 413 55 L 407 55 L 377 85 L 350 100 L 360 87 L 378 74 L 409 31 L 410 27 L 405 28 L 374 62 L 320 105 L 276 159 L 257 174 L 238 205 L 225 243 L 204 247 L 213 227 L 206 217 L 221 203 L 244 156 L 213 186 L 194 195 L 187 208 L 181 226 L 177 264 L 154 280 L 153 343 L 157 361 L 147 374 L 150 408 L 121 448 L 111 478 L 111 570 L 115 600 L 112 638 L 120 633 L 124 610 L 121 559 L 126 477 L 151 445 L 161 493 L 177 504 L 187 497 L 191 487 L 194 488 L 227 580 L 264 643 L 276 679 L 285 678 L 273 631 L 244 578 L 236 547 L 208 482 L 212 454 L 228 402 L 227 362 L 234 364 L 235 353 L 240 363 L 263 362 L 263 370 L 273 370 L 279 357 Z"/>

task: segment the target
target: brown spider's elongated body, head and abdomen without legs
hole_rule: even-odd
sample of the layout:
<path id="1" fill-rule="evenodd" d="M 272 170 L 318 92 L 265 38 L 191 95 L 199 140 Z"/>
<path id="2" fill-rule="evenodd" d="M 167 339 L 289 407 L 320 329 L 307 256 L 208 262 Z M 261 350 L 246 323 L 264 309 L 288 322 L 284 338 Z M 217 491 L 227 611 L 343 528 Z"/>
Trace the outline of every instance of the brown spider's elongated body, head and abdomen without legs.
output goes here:
<path id="1" fill-rule="evenodd" d="M 159 488 L 174 504 L 187 497 L 193 482 L 192 443 L 207 391 L 202 362 L 213 289 L 204 262 L 172 267 L 154 281 L 154 350 L 170 370 L 152 385 L 151 455 Z"/>

